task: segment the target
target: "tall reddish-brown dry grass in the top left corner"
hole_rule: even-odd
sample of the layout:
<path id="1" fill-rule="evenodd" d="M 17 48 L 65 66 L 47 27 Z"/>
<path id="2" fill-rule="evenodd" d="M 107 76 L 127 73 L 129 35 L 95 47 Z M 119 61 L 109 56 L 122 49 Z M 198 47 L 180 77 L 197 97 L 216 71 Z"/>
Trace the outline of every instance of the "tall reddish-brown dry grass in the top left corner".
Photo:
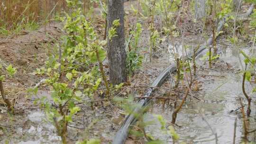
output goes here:
<path id="1" fill-rule="evenodd" d="M 83 1 L 88 7 L 89 0 Z M 0 0 L 0 27 L 11 30 L 29 22 L 49 21 L 64 10 L 65 0 Z"/>

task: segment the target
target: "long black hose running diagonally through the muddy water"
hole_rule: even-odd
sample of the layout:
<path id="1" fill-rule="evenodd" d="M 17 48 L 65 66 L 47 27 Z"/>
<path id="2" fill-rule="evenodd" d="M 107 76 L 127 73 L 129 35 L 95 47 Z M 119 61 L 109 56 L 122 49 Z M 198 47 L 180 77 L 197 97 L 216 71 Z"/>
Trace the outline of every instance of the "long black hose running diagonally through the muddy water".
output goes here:
<path id="1" fill-rule="evenodd" d="M 250 8 L 247 10 L 247 13 L 245 14 L 245 16 L 249 16 L 254 9 L 254 4 L 252 4 L 250 6 Z M 219 33 L 219 31 L 222 29 L 226 18 L 228 16 L 226 16 L 225 18 L 223 18 L 218 25 L 217 28 L 217 34 Z M 213 38 L 210 37 L 207 42 L 205 42 L 200 48 L 199 50 L 197 50 L 196 55 L 199 55 L 203 50 L 206 49 L 206 47 L 208 45 L 212 44 L 212 40 Z M 193 53 L 190 53 L 188 55 L 188 57 L 192 57 Z M 160 87 L 165 79 L 169 76 L 170 73 L 175 72 L 176 71 L 176 64 L 171 64 L 169 67 L 165 68 L 165 70 L 163 70 L 158 77 L 151 83 L 150 87 L 146 90 L 145 94 L 144 94 L 144 98 L 140 99 L 137 102 L 137 107 L 133 110 L 133 112 L 128 115 L 128 117 L 126 117 L 126 119 L 124 120 L 124 122 L 122 123 L 122 126 L 119 128 L 118 132 L 116 133 L 113 143 L 112 144 L 124 144 L 126 141 L 126 138 L 128 136 L 128 131 L 129 131 L 129 126 L 133 125 L 136 121 L 137 121 L 137 117 L 134 114 L 141 114 L 144 112 L 145 107 L 150 103 L 150 98 L 145 98 L 145 97 L 151 97 L 153 91 L 155 90 L 155 87 Z"/>

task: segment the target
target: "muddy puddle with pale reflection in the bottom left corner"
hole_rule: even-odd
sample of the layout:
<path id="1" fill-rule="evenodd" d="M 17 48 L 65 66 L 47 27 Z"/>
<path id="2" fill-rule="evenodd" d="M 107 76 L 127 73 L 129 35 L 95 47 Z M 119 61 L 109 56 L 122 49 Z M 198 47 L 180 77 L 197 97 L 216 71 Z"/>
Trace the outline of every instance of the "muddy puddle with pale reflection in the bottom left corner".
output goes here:
<path id="1" fill-rule="evenodd" d="M 61 138 L 56 135 L 55 127 L 46 120 L 44 111 L 30 111 L 24 116 L 16 116 L 12 119 L 5 117 L 2 127 L 8 137 L 0 138 L 0 144 L 60 144 Z"/>

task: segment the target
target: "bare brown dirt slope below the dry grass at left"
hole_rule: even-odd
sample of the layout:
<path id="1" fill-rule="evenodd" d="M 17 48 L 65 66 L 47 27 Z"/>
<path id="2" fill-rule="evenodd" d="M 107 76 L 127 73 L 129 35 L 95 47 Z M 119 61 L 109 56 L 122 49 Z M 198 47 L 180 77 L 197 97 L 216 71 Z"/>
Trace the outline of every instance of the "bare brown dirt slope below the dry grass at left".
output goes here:
<path id="1" fill-rule="evenodd" d="M 61 27 L 60 23 L 50 24 L 36 31 L 22 31 L 20 35 L 0 39 L 0 63 L 3 66 L 12 64 L 18 70 L 15 80 L 10 81 L 26 86 L 38 81 L 31 72 L 44 65 L 60 38 Z"/>

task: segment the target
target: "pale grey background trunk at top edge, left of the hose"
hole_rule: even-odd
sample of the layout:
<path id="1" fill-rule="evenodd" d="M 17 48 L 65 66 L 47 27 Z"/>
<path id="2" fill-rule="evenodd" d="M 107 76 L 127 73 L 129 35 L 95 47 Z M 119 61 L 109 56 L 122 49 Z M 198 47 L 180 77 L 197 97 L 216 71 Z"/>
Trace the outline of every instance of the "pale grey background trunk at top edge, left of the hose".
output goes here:
<path id="1" fill-rule="evenodd" d="M 201 19 L 205 16 L 205 0 L 195 0 L 195 18 Z"/>

